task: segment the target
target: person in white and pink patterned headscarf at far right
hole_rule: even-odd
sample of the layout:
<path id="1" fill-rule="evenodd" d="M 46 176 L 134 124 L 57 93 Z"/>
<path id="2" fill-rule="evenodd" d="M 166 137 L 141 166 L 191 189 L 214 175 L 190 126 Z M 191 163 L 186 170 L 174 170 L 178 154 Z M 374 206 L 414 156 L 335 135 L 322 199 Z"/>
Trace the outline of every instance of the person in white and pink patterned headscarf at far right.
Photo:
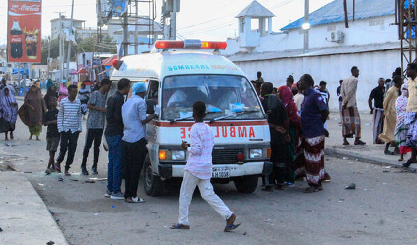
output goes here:
<path id="1" fill-rule="evenodd" d="M 394 139 L 395 144 L 400 148 L 400 159 L 404 160 L 404 154 L 411 151 L 410 147 L 405 145 L 407 141 L 408 124 L 405 123 L 405 117 L 407 114 L 407 103 L 408 103 L 408 83 L 404 83 L 401 86 L 401 95 L 395 102 L 395 109 L 397 111 L 397 124 L 395 125 Z"/>

